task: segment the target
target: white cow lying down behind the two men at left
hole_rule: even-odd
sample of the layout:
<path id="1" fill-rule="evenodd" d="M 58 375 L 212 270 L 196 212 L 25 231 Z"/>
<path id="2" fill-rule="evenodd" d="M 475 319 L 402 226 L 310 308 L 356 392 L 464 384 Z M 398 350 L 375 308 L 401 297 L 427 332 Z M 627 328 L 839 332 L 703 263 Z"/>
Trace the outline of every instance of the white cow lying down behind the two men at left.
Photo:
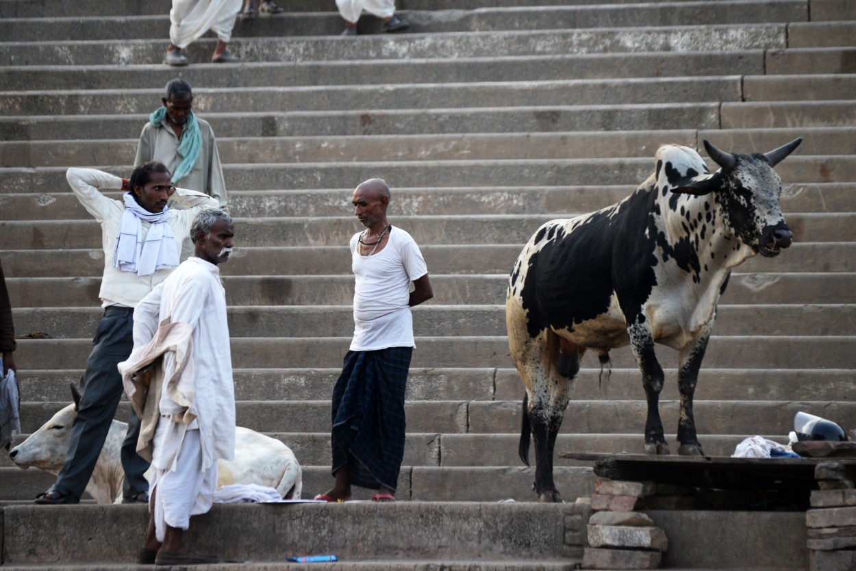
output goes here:
<path id="1" fill-rule="evenodd" d="M 71 425 L 77 416 L 77 405 L 53 415 L 27 440 L 15 446 L 9 457 L 15 466 L 27 469 L 37 467 L 56 475 L 65 463 Z M 98 503 L 121 501 L 122 483 L 125 473 L 119 453 L 128 425 L 113 420 L 104 448 L 86 491 Z M 276 488 L 282 497 L 300 499 L 303 487 L 303 472 L 294 453 L 276 438 L 266 437 L 248 428 L 235 428 L 235 461 L 219 461 L 217 464 L 217 487 L 230 484 L 257 484 Z"/>

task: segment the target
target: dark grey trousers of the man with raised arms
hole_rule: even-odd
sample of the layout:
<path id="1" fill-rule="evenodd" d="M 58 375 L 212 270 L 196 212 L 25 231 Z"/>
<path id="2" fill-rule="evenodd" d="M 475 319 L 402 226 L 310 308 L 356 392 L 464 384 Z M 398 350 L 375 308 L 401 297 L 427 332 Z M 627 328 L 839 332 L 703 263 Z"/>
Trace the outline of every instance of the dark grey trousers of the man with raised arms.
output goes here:
<path id="1" fill-rule="evenodd" d="M 98 323 L 92 345 L 92 353 L 86 360 L 83 396 L 71 429 L 65 465 L 56 476 L 56 483 L 51 486 L 51 491 L 78 499 L 92 477 L 116 407 L 122 398 L 122 376 L 116 365 L 128 359 L 134 348 L 134 310 L 115 306 L 104 309 L 104 317 Z M 144 476 L 149 463 L 136 452 L 138 437 L 140 419 L 132 409 L 128 419 L 128 433 L 122 443 L 124 497 L 134 497 L 149 490 Z"/>

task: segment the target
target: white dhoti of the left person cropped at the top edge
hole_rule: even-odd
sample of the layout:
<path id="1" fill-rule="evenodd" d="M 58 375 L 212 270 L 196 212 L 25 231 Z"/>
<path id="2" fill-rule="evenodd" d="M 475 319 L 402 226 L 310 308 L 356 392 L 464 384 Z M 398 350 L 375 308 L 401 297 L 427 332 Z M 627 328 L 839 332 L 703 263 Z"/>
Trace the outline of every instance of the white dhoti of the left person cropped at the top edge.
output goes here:
<path id="1" fill-rule="evenodd" d="M 242 3 L 243 0 L 172 0 L 169 41 L 179 48 L 186 48 L 211 30 L 218 39 L 228 43 Z"/>

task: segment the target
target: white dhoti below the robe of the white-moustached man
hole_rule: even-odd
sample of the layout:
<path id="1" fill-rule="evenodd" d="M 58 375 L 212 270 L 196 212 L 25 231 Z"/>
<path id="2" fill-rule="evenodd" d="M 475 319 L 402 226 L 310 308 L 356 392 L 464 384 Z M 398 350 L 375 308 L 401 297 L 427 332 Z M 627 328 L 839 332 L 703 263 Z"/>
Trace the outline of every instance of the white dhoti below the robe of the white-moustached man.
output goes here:
<path id="1" fill-rule="evenodd" d="M 155 446 L 158 436 L 163 437 L 162 425 L 175 424 L 168 419 L 158 422 Z M 175 435 L 175 431 L 170 431 Z M 206 514 L 214 503 L 214 491 L 217 490 L 217 462 L 202 471 L 202 443 L 198 430 L 183 432 L 180 449 L 172 470 L 163 470 L 152 466 L 152 481 L 149 484 L 149 496 L 154 499 L 155 534 L 163 541 L 166 526 L 187 529 L 190 516 Z"/>

